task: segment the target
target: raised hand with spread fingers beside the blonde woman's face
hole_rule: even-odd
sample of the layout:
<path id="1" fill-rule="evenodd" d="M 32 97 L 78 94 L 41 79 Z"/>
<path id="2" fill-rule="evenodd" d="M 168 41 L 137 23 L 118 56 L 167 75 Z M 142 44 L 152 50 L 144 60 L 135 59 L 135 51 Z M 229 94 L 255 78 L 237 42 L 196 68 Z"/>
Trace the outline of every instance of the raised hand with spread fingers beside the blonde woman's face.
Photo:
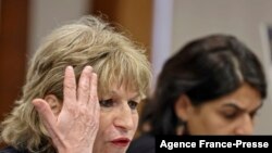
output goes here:
<path id="1" fill-rule="evenodd" d="M 58 116 L 44 99 L 35 99 L 33 104 L 59 153 L 91 153 L 100 114 L 97 75 L 86 66 L 76 87 L 73 67 L 67 66 L 63 90 L 63 105 Z"/>

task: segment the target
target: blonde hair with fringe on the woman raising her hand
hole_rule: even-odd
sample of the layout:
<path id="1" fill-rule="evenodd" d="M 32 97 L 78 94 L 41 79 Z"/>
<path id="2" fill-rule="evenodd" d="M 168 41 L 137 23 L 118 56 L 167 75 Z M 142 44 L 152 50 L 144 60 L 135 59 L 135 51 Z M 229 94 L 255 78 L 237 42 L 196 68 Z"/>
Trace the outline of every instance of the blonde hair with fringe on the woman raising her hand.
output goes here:
<path id="1" fill-rule="evenodd" d="M 23 95 L 2 122 L 1 141 L 28 152 L 55 152 L 32 100 L 47 94 L 63 100 L 64 69 L 69 65 L 74 67 L 77 80 L 86 65 L 92 66 L 99 97 L 114 82 L 145 98 L 151 78 L 143 48 L 100 18 L 84 16 L 53 30 L 32 59 Z"/>

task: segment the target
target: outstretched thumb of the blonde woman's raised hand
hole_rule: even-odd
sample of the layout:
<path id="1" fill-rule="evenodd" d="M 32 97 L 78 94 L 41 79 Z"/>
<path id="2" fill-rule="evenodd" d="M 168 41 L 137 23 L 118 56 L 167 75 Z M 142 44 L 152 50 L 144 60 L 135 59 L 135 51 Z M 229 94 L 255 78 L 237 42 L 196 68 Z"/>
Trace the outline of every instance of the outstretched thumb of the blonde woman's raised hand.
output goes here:
<path id="1" fill-rule="evenodd" d="M 35 110 L 39 113 L 40 117 L 42 118 L 42 123 L 46 126 L 50 136 L 52 138 L 55 138 L 54 129 L 57 124 L 57 117 L 51 111 L 49 104 L 42 99 L 34 99 L 33 105 L 35 106 Z"/>

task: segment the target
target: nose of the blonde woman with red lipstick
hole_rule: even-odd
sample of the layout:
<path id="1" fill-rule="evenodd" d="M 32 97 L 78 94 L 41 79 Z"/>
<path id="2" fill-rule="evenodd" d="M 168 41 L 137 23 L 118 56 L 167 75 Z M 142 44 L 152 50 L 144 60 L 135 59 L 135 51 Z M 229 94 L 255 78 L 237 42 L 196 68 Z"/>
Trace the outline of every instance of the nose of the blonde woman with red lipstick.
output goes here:
<path id="1" fill-rule="evenodd" d="M 116 112 L 113 124 L 115 127 L 126 131 L 134 128 L 132 110 L 127 104 L 122 105 L 119 112 Z"/>

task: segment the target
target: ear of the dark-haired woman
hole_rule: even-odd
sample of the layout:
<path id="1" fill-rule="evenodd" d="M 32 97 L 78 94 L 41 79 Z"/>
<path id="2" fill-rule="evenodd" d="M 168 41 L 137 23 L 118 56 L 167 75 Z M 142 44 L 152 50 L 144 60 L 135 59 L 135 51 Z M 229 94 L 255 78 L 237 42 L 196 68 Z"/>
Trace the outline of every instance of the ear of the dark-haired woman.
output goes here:
<path id="1" fill-rule="evenodd" d="M 175 114 L 176 116 L 183 120 L 187 122 L 190 111 L 193 109 L 191 102 L 186 94 L 182 94 L 177 102 L 175 103 Z"/>

